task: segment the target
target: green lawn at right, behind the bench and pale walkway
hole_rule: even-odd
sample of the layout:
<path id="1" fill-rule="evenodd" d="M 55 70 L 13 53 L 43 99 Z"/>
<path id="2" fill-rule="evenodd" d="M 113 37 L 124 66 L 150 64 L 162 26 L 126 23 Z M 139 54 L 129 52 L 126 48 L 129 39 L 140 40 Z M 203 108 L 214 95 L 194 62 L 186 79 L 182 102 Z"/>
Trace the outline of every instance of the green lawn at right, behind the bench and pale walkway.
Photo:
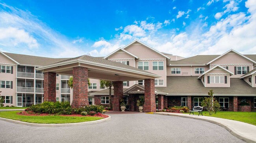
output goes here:
<path id="1" fill-rule="evenodd" d="M 189 113 L 184 113 L 189 114 Z M 192 113 L 191 113 L 192 114 Z M 198 115 L 198 112 L 194 112 Z M 208 112 L 203 111 L 203 116 L 210 116 Z M 241 121 L 256 125 L 256 112 L 231 112 L 231 111 L 219 111 L 216 114 L 212 114 L 211 117 L 223 118 L 223 119 L 232 119 L 236 121 Z"/>

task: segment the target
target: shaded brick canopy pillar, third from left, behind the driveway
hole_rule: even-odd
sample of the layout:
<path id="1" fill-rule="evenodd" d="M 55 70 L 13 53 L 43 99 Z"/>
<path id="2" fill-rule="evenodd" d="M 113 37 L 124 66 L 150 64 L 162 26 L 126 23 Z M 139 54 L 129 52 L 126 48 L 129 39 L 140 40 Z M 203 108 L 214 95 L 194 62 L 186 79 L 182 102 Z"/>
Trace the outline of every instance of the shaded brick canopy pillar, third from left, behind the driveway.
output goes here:
<path id="1" fill-rule="evenodd" d="M 113 100 L 113 111 L 120 111 L 120 100 L 123 96 L 123 84 L 122 81 L 113 81 L 114 86 L 114 98 Z"/>

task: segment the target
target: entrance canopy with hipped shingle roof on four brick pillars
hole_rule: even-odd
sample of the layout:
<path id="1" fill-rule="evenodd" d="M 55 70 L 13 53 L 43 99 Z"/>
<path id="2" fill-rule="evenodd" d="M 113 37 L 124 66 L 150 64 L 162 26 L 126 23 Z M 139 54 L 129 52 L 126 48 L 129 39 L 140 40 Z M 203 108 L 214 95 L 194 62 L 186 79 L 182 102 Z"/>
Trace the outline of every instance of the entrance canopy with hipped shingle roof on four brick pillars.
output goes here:
<path id="1" fill-rule="evenodd" d="M 154 79 L 161 76 L 151 72 L 87 55 L 38 67 L 36 70 L 44 72 L 45 101 L 56 101 L 56 73 L 73 76 L 72 107 L 89 105 L 88 78 L 114 81 L 113 110 L 116 111 L 119 110 L 119 101 L 123 96 L 122 81 L 145 80 L 145 111 L 156 110 Z"/>

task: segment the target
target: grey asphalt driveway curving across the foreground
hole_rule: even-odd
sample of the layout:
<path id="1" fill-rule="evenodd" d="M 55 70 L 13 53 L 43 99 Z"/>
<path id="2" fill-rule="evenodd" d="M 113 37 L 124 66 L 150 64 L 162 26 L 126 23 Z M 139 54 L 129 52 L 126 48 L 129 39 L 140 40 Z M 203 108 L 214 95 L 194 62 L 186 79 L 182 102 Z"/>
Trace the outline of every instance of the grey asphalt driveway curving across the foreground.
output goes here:
<path id="1" fill-rule="evenodd" d="M 243 143 L 226 129 L 196 119 L 155 114 L 111 114 L 77 127 L 31 127 L 0 121 L 2 143 Z"/>

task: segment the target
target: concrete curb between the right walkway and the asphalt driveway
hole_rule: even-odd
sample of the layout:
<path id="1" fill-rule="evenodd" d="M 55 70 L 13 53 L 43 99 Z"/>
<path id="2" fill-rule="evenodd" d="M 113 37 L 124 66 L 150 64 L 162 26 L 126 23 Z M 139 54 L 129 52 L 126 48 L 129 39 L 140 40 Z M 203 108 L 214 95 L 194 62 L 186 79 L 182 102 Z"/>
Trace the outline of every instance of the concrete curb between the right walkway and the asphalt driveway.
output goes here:
<path id="1" fill-rule="evenodd" d="M 228 132 L 230 132 L 233 136 L 241 139 L 242 141 L 245 141 L 247 143 L 256 143 L 256 140 L 254 140 L 252 138 L 249 138 L 247 136 L 244 136 L 243 134 L 240 134 L 239 132 L 234 130 L 232 127 L 230 127 L 230 126 L 228 126 L 224 123 L 213 121 L 211 119 L 198 118 L 197 116 L 182 116 L 182 115 L 179 115 L 179 114 L 165 114 L 165 113 L 161 113 L 161 112 L 154 112 L 154 114 L 167 115 L 167 116 L 176 116 L 176 117 L 183 117 L 183 118 L 191 118 L 191 119 L 198 119 L 198 120 L 202 120 L 202 121 L 208 121 L 210 123 L 214 123 L 216 125 L 219 125 L 219 126 L 223 127 L 224 129 L 228 130 Z"/>

